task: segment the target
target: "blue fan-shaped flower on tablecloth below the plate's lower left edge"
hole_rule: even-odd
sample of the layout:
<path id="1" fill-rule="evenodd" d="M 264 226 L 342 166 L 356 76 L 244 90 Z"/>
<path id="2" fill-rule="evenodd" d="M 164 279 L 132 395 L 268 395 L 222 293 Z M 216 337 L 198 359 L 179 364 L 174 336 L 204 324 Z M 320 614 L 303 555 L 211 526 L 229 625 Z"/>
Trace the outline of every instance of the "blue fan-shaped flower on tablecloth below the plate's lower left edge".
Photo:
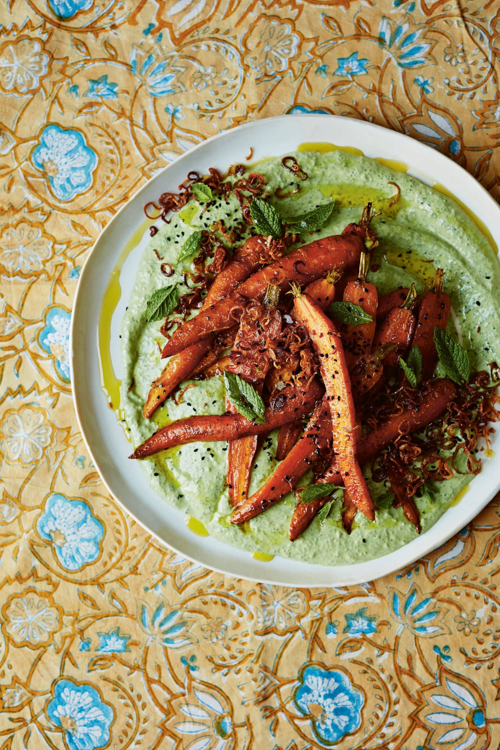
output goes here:
<path id="1" fill-rule="evenodd" d="M 169 649 L 182 649 L 198 643 L 189 632 L 191 622 L 182 619 L 181 610 L 170 609 L 170 604 L 165 599 L 160 599 L 154 608 L 146 603 L 140 604 L 137 620 L 149 636 L 148 645 L 155 641 Z"/>

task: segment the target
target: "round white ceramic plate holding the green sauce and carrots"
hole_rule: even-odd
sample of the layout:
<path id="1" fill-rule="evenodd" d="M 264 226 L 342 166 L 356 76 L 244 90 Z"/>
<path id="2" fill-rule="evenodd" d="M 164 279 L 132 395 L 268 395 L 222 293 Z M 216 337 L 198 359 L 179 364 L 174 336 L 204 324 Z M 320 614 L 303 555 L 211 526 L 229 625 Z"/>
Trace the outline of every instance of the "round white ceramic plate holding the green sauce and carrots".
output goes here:
<path id="1" fill-rule="evenodd" d="M 427 532 L 405 547 L 359 565 L 323 567 L 275 557 L 271 562 L 253 559 L 215 539 L 194 535 L 185 516 L 149 488 L 137 461 L 128 460 L 130 445 L 101 389 L 97 356 L 101 302 L 119 255 L 143 223 L 143 206 L 169 189 L 176 189 L 195 169 L 205 174 L 210 166 L 221 171 L 241 162 L 254 148 L 253 160 L 294 151 L 302 142 L 332 142 L 360 148 L 366 156 L 401 160 L 410 174 L 428 184 L 438 181 L 464 202 L 488 226 L 500 245 L 500 208 L 465 169 L 408 136 L 378 125 L 332 115 L 283 115 L 227 130 L 192 148 L 165 167 L 126 203 L 95 242 L 86 261 L 71 319 L 71 383 L 83 438 L 104 484 L 116 500 L 155 537 L 173 550 L 223 573 L 250 580 L 292 586 L 341 586 L 373 580 L 396 571 L 438 547 L 465 526 L 500 488 L 500 433 L 495 434 L 494 457 L 471 481 L 464 499 L 447 510 Z M 122 365 L 119 329 L 134 285 L 140 256 L 149 232 L 122 267 L 122 296 L 111 322 L 111 356 L 120 377 Z"/>

